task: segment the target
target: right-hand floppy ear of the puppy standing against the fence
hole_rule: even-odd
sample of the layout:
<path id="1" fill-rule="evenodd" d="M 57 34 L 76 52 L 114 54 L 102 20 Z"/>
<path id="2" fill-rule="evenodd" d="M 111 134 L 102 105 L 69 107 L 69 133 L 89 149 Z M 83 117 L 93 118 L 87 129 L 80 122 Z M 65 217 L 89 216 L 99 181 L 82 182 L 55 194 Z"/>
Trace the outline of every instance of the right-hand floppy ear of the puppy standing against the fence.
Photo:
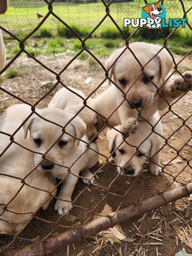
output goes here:
<path id="1" fill-rule="evenodd" d="M 162 81 L 165 81 L 165 77 L 171 70 L 171 67 L 173 65 L 173 60 L 169 52 L 167 52 L 166 49 L 163 49 L 159 54 L 157 55 L 157 59 L 160 62 L 161 65 L 161 77 Z"/>

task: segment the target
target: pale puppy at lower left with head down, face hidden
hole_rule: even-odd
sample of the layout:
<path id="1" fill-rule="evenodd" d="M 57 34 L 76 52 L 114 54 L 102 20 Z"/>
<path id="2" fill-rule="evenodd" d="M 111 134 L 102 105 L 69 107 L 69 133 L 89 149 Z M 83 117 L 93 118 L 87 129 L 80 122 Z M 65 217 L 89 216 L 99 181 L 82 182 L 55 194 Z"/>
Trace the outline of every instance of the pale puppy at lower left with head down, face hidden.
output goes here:
<path id="1" fill-rule="evenodd" d="M 11 113 L 10 113 L 11 114 Z M 6 122 L 10 119 L 10 123 Z M 0 117 L 0 131 L 12 134 L 20 125 L 12 114 Z M 56 181 L 44 171 L 34 170 L 34 153 L 23 149 L 15 143 L 9 148 L 8 135 L 0 134 L 0 231 L 9 235 L 19 233 L 33 218 L 41 206 L 45 210 L 51 202 L 50 193 Z M 14 141 L 29 148 L 29 140 L 24 140 L 23 129 L 14 135 Z M 33 171 L 34 170 L 34 171 Z M 10 177 L 9 177 L 9 176 Z M 24 180 L 25 185 L 23 186 Z M 55 195 L 57 190 L 53 190 Z M 4 206 L 7 205 L 4 209 Z"/>

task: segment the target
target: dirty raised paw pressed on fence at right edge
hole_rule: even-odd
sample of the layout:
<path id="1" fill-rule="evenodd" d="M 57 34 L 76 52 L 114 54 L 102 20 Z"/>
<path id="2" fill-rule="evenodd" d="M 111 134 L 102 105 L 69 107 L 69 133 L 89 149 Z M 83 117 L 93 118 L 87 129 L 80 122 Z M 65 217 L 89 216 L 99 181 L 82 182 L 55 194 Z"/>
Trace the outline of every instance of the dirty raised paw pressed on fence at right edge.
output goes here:
<path id="1" fill-rule="evenodd" d="M 177 93 L 178 92 L 186 92 L 188 89 L 191 88 L 192 84 L 192 71 L 185 71 L 183 77 L 178 76 L 174 79 L 173 85 L 171 86 L 171 92 Z"/>

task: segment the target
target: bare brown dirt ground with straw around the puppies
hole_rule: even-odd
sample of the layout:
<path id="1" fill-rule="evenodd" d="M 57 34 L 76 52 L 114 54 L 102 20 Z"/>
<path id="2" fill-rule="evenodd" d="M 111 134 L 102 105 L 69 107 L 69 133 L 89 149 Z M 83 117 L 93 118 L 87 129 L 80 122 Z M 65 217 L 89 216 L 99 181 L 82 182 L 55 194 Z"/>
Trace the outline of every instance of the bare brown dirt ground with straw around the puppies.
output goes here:
<path id="1" fill-rule="evenodd" d="M 179 61 L 180 56 L 176 57 Z M 70 60 L 65 54 L 58 54 L 55 58 L 41 57 L 41 61 L 50 69 L 59 72 Z M 22 63 L 22 64 L 21 64 Z M 102 60 L 105 63 L 105 60 Z M 38 65 L 34 60 L 27 57 L 19 57 L 17 61 L 11 66 L 13 69 L 21 70 L 22 76 L 13 79 L 5 79 L 1 86 L 9 92 L 17 95 L 22 100 L 34 104 L 45 93 L 51 89 L 55 82 L 55 75 L 51 74 L 45 68 Z M 179 70 L 191 69 L 191 59 L 187 58 L 179 65 Z M 89 84 L 85 84 L 85 80 L 92 77 Z M 105 72 L 97 65 L 90 66 L 84 60 L 75 60 L 61 75 L 61 81 L 65 85 L 73 86 L 81 89 L 86 95 L 91 93 L 105 78 Z M 107 83 L 104 83 L 100 89 L 93 95 L 101 93 L 106 90 Z M 57 87 L 57 90 L 60 86 Z M 49 103 L 52 92 L 48 95 L 38 107 L 45 107 Z M 165 190 L 185 184 L 192 179 L 192 171 L 187 165 L 187 160 L 191 162 L 191 128 L 192 128 L 192 93 L 188 92 L 181 100 L 179 100 L 172 107 L 173 111 L 167 113 L 163 119 L 164 137 L 168 138 L 170 134 L 176 131 L 168 140 L 169 146 L 165 146 L 161 154 L 161 162 L 165 164 L 170 159 L 177 156 L 177 150 L 180 151 L 177 161 L 173 161 L 166 167 L 167 174 L 155 178 L 148 171 L 141 173 L 137 178 L 119 176 L 115 182 L 110 186 L 107 193 L 108 186 L 117 177 L 117 172 L 113 164 L 106 164 L 102 168 L 103 172 L 98 174 L 95 185 L 86 188 L 86 186 L 79 181 L 75 187 L 75 198 L 80 191 L 86 188 L 81 196 L 78 198 L 77 205 L 85 207 L 86 209 L 93 209 L 100 201 L 101 203 L 96 207 L 95 212 L 98 214 L 107 214 L 116 211 L 121 204 L 121 209 L 126 206 L 137 204 L 149 197 L 157 195 Z M 0 110 L 3 111 L 6 107 L 18 103 L 19 101 L 10 95 L 0 91 Z M 174 113 L 177 113 L 176 116 Z M 163 113 L 161 113 L 163 114 Z M 187 120 L 182 125 L 182 119 Z M 186 146 L 185 143 L 187 143 Z M 162 141 L 163 145 L 165 141 Z M 98 139 L 100 153 L 109 156 L 107 143 L 105 139 L 105 132 L 101 133 Z M 186 161 L 183 160 L 184 157 Z M 105 158 L 100 157 L 99 163 L 93 168 L 93 172 L 99 166 L 105 163 Z M 143 168 L 148 169 L 147 164 Z M 181 172 L 181 170 L 183 170 Z M 177 177 L 176 177 L 177 176 Z M 175 177 L 175 179 L 174 179 Z M 133 184 L 133 186 L 132 186 Z M 128 193 L 126 193 L 128 191 Z M 124 197 L 124 195 L 126 196 Z M 105 198 L 104 198 L 105 197 Z M 104 198 L 104 199 L 103 199 Z M 125 234 L 126 237 L 134 238 L 132 242 L 121 242 L 113 235 L 113 230 L 102 231 L 101 233 L 85 239 L 82 242 L 63 246 L 63 249 L 52 254 L 82 256 L 82 255 L 98 255 L 98 256 L 112 256 L 112 255 L 163 255 L 174 256 L 175 253 L 185 247 L 188 253 L 192 254 L 192 212 L 189 208 L 192 197 L 182 198 L 177 202 L 163 206 L 155 211 L 149 212 L 147 215 L 138 218 L 133 218 L 118 225 L 118 230 Z M 81 226 L 89 217 L 91 220 L 98 218 L 96 215 L 92 216 L 92 212 L 82 209 L 81 207 L 74 207 L 70 212 L 74 215 L 76 220 L 65 221 L 60 220 L 60 226 L 55 226 L 55 221 L 58 219 L 58 213 L 54 211 L 54 201 L 51 202 L 49 209 L 46 211 L 39 211 L 37 217 L 46 220 L 42 221 L 34 219 L 29 223 L 25 230 L 19 235 L 17 239 L 10 245 L 10 248 L 17 248 L 22 245 L 41 242 L 47 235 L 55 236 L 61 231 L 69 229 L 69 227 Z M 186 218 L 186 209 L 190 209 L 190 214 Z M 65 227 L 67 226 L 67 227 Z M 13 238 L 8 236 L 0 236 L 0 245 L 6 246 Z M 127 246 L 127 250 L 126 247 Z M 1 255 L 1 253 L 0 253 Z"/>

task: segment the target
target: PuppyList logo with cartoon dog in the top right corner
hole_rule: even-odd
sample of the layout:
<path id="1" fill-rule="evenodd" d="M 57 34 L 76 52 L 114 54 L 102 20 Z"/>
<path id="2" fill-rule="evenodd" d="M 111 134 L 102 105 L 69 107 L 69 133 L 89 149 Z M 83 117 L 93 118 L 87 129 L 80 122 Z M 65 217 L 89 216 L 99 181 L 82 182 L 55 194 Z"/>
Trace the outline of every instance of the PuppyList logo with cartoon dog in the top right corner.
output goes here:
<path id="1" fill-rule="evenodd" d="M 146 26 L 147 28 L 182 28 L 186 27 L 187 18 L 169 18 L 166 23 L 166 11 L 162 4 L 151 2 L 141 10 L 141 18 L 124 18 L 124 28 Z"/>

